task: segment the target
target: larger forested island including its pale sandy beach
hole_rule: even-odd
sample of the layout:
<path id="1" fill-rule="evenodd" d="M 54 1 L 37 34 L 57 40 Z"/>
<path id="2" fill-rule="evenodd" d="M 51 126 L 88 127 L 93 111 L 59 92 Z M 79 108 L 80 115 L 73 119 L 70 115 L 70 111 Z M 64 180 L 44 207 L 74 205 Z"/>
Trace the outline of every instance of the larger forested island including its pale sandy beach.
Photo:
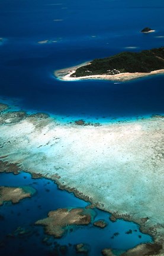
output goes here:
<path id="1" fill-rule="evenodd" d="M 65 81 L 79 79 L 127 81 L 157 73 L 164 73 L 164 47 L 137 53 L 121 52 L 72 68 L 61 69 L 54 72 L 54 75 Z"/>

